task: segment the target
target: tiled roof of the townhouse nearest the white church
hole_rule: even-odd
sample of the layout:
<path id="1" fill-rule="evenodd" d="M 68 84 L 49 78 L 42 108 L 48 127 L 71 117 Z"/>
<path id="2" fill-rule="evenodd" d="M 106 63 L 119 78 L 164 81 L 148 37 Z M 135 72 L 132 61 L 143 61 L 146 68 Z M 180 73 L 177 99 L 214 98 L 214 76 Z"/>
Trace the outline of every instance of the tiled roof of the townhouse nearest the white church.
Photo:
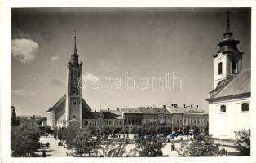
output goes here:
<path id="1" fill-rule="evenodd" d="M 172 107 L 172 106 L 168 106 L 167 107 L 170 111 L 170 113 L 196 113 L 196 114 L 208 114 L 208 112 L 206 112 L 205 110 L 201 109 L 201 108 L 191 108 L 191 107 Z"/>

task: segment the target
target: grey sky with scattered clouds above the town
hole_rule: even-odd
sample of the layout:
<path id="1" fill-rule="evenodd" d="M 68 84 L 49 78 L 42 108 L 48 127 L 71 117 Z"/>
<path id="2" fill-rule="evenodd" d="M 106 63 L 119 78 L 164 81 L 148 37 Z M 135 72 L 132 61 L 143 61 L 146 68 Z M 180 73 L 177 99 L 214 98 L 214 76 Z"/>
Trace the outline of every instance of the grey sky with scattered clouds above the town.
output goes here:
<path id="1" fill-rule="evenodd" d="M 93 110 L 121 107 L 193 104 L 208 110 L 205 99 L 214 89 L 214 57 L 226 29 L 231 29 L 250 68 L 249 8 L 12 8 L 11 105 L 17 114 L 46 116 L 66 93 L 67 64 L 77 51 L 86 83 L 99 80 L 99 89 L 83 90 Z M 126 75 L 165 77 L 174 74 L 175 90 L 125 89 Z M 120 79 L 111 89 L 104 77 Z M 157 82 L 157 81 L 156 81 Z M 130 82 L 132 86 L 133 82 Z M 117 85 L 116 85 L 117 86 Z M 129 86 L 129 83 L 128 83 Z"/>

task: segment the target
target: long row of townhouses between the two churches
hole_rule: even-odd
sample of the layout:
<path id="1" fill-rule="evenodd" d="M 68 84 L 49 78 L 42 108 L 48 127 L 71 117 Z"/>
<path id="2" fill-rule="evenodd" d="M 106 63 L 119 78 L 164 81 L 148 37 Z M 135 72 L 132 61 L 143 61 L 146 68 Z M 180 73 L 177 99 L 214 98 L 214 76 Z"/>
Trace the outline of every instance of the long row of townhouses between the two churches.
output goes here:
<path id="1" fill-rule="evenodd" d="M 153 123 L 159 127 L 169 128 L 174 131 L 188 132 L 199 130 L 204 132 L 208 126 L 208 112 L 190 105 L 183 107 L 171 104 L 162 108 L 117 108 L 107 109 L 100 112 L 86 112 L 83 116 L 83 127 L 104 126 L 109 128 L 128 128 L 129 132 L 134 127 Z"/>

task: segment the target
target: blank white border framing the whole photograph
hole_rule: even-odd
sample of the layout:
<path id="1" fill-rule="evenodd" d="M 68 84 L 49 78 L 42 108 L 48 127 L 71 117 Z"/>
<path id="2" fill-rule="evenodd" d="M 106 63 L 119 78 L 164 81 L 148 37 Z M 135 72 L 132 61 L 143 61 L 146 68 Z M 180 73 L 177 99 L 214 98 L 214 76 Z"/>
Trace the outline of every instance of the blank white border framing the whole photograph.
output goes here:
<path id="1" fill-rule="evenodd" d="M 157 158 L 69 158 L 69 157 L 52 157 L 52 158 L 13 158 L 11 157 L 11 141 L 10 141 L 10 117 L 11 117 L 11 8 L 12 7 L 252 7 L 252 28 L 251 28 L 251 47 L 256 45 L 255 38 L 255 7 L 256 2 L 251 1 L 233 1 L 221 0 L 216 1 L 175 1 L 175 0 L 101 0 L 101 1 L 82 1 L 77 0 L 70 2 L 68 0 L 12 0 L 0 1 L 0 115 L 1 115 L 1 162 L 255 162 L 256 161 L 256 142 L 255 142 L 255 109 L 251 109 L 251 156 L 249 157 L 157 157 Z M 255 48 L 251 48 L 251 53 L 256 52 Z M 251 55 L 251 60 L 256 60 Z M 251 64 L 252 81 L 255 82 L 255 65 Z M 252 97 L 255 95 L 255 85 L 251 86 Z M 255 100 L 252 98 L 251 108 L 255 106 Z"/>

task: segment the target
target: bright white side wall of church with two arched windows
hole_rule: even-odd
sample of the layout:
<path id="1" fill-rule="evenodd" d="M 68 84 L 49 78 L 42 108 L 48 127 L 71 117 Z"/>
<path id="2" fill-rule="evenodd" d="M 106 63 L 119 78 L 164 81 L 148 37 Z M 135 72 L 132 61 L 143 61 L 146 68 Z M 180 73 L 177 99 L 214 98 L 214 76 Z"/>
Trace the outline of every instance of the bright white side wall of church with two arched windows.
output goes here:
<path id="1" fill-rule="evenodd" d="M 241 111 L 241 104 L 249 103 L 249 112 Z M 226 105 L 226 112 L 220 106 Z M 214 138 L 235 139 L 234 131 L 250 128 L 250 97 L 223 100 L 209 104 L 209 132 Z"/>

